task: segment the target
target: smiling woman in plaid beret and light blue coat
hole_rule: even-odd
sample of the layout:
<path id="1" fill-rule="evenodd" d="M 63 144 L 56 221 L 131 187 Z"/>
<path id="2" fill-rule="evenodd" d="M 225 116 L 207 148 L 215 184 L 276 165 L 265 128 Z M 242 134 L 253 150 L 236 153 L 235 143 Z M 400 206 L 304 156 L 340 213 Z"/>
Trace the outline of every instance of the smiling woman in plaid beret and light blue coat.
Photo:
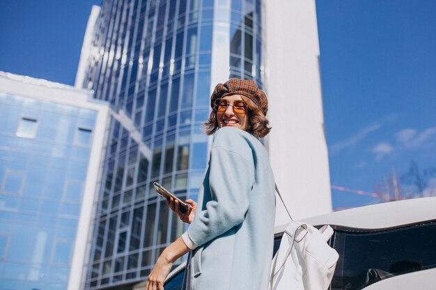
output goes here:
<path id="1" fill-rule="evenodd" d="M 187 214 L 169 205 L 187 232 L 171 243 L 148 276 L 147 290 L 162 290 L 173 262 L 192 250 L 185 273 L 189 290 L 267 289 L 274 238 L 274 176 L 258 138 L 269 133 L 267 97 L 254 81 L 230 79 L 212 93 L 205 123 L 213 136 L 197 204 Z"/>

